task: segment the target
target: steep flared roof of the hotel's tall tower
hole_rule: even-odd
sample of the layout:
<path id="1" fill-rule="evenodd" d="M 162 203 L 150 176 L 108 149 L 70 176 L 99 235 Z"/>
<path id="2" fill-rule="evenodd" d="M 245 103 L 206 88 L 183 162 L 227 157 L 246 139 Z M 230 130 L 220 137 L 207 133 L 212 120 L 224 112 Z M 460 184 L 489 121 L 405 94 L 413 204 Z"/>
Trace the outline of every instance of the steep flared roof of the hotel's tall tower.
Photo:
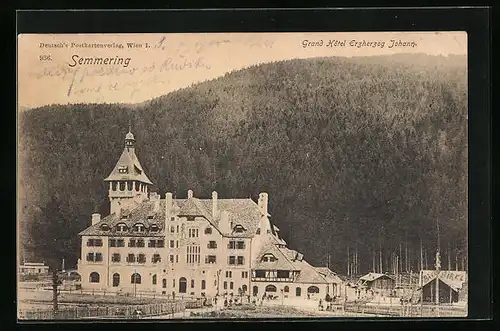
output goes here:
<path id="1" fill-rule="evenodd" d="M 121 167 L 126 167 L 127 173 L 121 173 L 119 169 Z M 144 170 L 139 162 L 139 159 L 135 155 L 135 149 L 133 147 L 125 147 L 123 149 L 122 155 L 118 159 L 111 174 L 104 179 L 104 181 L 124 181 L 124 180 L 134 180 L 140 181 L 146 184 L 152 185 L 153 183 L 149 180 L 144 173 Z"/>

